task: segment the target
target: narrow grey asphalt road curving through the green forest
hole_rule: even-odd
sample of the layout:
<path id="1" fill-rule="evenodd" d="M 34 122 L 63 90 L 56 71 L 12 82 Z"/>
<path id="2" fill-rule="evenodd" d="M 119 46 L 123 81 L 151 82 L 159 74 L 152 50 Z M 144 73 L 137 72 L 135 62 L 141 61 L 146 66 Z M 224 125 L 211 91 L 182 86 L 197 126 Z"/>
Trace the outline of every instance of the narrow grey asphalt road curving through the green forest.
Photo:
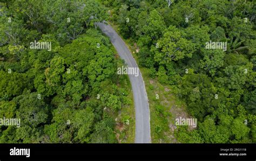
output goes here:
<path id="1" fill-rule="evenodd" d="M 136 61 L 132 57 L 131 52 L 126 47 L 122 38 L 120 38 L 116 31 L 110 26 L 104 23 L 97 23 L 100 30 L 102 30 L 108 37 L 110 37 L 111 43 L 116 48 L 118 54 L 125 60 L 128 67 L 136 67 Z M 136 134 L 135 143 L 150 143 L 150 112 L 149 103 L 147 102 L 147 93 L 145 84 L 142 78 L 142 73 L 139 71 L 139 76 L 129 75 L 133 98 L 135 106 L 135 119 L 136 119 Z"/>

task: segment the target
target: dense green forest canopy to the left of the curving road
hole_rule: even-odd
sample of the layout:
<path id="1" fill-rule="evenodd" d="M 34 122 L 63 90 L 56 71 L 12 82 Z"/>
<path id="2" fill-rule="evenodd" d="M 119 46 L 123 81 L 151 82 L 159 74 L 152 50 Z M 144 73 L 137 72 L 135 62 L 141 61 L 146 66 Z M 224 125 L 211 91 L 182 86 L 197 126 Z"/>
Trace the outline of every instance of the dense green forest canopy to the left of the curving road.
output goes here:
<path id="1" fill-rule="evenodd" d="M 118 86 L 123 62 L 96 29 L 103 5 L 8 0 L 0 15 L 0 117 L 21 119 L 0 127 L 0 143 L 116 143 L 114 116 L 132 101 Z"/>

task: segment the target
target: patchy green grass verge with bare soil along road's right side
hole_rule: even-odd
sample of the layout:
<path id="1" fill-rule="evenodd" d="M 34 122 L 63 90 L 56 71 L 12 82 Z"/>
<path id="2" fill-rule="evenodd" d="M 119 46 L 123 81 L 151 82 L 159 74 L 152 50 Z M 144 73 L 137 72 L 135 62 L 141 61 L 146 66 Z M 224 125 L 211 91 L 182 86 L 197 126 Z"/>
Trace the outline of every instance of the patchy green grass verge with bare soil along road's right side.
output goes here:
<path id="1" fill-rule="evenodd" d="M 175 87 L 161 85 L 150 77 L 150 69 L 140 68 L 150 104 L 152 143 L 177 143 L 175 118 L 186 115 L 185 105 L 176 96 Z"/>

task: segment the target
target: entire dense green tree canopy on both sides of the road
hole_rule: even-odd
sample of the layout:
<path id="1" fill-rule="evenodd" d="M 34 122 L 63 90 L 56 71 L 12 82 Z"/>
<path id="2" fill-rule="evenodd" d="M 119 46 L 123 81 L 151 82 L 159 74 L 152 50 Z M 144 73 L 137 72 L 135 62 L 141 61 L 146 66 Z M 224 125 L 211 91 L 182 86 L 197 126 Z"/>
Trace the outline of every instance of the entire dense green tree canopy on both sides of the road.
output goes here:
<path id="1" fill-rule="evenodd" d="M 133 117 L 120 114 L 132 106 L 130 82 L 97 29 L 103 20 L 197 118 L 192 130 L 177 127 L 178 142 L 256 142 L 253 0 L 2 0 L 0 15 L 0 118 L 21 118 L 21 127 L 0 127 L 0 143 L 127 139 L 116 125 Z M 156 106 L 165 119 L 164 108 Z"/>

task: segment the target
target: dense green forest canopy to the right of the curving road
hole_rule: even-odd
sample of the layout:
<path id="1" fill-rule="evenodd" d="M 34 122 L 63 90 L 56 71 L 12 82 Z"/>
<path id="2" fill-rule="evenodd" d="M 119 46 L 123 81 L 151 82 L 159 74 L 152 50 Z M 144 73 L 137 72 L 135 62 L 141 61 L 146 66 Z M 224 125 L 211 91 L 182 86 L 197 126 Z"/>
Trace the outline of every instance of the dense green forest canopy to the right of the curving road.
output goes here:
<path id="1" fill-rule="evenodd" d="M 178 87 L 179 99 L 198 119 L 197 129 L 176 130 L 179 142 L 256 142 L 255 1 L 102 3 L 122 36 L 138 44 L 139 66 Z M 207 42 L 224 48 L 209 49 Z"/>

